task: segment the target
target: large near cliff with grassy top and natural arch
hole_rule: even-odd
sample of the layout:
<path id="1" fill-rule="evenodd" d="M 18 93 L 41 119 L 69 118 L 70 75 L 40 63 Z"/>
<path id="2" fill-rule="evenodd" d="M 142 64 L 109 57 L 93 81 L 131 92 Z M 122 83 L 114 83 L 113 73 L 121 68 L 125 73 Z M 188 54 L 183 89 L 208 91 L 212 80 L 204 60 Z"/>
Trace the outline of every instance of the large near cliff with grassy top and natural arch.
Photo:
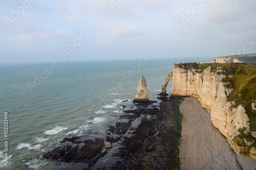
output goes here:
<path id="1" fill-rule="evenodd" d="M 172 95 L 197 97 L 231 148 L 256 159 L 256 64 L 175 64 L 161 93 L 168 79 L 173 80 Z"/>

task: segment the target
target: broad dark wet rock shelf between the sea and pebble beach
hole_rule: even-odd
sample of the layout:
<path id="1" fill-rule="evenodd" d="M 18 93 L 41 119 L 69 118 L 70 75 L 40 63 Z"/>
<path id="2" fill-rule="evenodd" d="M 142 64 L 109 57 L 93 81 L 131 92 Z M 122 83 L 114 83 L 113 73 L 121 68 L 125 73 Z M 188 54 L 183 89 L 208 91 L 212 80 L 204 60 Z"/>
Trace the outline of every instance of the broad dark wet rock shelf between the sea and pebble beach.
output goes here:
<path id="1" fill-rule="evenodd" d="M 124 114 L 106 127 L 102 138 L 92 137 L 96 133 L 91 131 L 86 136 L 64 138 L 44 153 L 42 159 L 70 162 L 71 169 L 79 170 L 167 169 L 176 144 L 174 112 L 170 111 L 169 101 L 163 101 L 160 106 L 154 103 L 145 106 L 149 109 L 140 106 L 140 109 L 122 110 Z"/>

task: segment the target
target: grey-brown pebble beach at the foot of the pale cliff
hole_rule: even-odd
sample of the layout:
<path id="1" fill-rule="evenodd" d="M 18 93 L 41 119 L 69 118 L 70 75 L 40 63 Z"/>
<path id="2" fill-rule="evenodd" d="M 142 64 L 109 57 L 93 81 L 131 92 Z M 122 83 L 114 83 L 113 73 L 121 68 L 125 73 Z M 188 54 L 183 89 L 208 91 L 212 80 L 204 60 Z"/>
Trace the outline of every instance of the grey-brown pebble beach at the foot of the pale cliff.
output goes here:
<path id="1" fill-rule="evenodd" d="M 180 144 L 181 169 L 255 169 L 256 160 L 240 156 L 231 149 L 197 98 L 185 98 L 180 112 L 184 117 Z"/>

